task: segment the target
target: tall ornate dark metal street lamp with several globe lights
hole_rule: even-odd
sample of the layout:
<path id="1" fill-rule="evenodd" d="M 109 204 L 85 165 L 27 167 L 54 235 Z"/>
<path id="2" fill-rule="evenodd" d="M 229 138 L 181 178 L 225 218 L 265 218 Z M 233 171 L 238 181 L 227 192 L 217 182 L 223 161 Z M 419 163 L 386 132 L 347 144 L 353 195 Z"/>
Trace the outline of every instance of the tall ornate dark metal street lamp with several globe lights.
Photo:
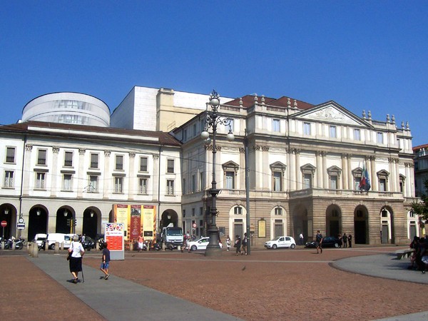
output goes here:
<path id="1" fill-rule="evenodd" d="M 217 216 L 215 200 L 217 198 L 218 193 L 220 192 L 220 190 L 217 189 L 217 182 L 215 181 L 215 153 L 217 153 L 215 146 L 215 135 L 217 133 L 217 125 L 223 124 L 224 126 L 229 126 L 229 133 L 226 137 L 228 141 L 233 141 L 235 139 L 235 136 L 233 136 L 232 128 L 230 127 L 230 119 L 221 118 L 218 115 L 218 106 L 220 106 L 220 96 L 218 96 L 218 93 L 216 91 L 213 91 L 210 94 L 210 106 L 211 111 L 208 111 L 207 108 L 205 117 L 205 129 L 202 133 L 200 133 L 200 138 L 205 140 L 206 145 L 209 145 L 211 143 L 211 139 L 210 133 L 208 133 L 208 129 L 213 129 L 213 182 L 211 183 L 210 190 L 208 190 L 208 193 L 210 193 L 211 195 L 211 222 L 210 227 L 208 228 L 210 242 L 208 243 L 207 248 L 205 250 L 205 256 L 216 256 L 221 255 L 220 245 L 218 245 L 220 235 L 218 233 L 217 225 L 215 225 L 215 216 Z"/>

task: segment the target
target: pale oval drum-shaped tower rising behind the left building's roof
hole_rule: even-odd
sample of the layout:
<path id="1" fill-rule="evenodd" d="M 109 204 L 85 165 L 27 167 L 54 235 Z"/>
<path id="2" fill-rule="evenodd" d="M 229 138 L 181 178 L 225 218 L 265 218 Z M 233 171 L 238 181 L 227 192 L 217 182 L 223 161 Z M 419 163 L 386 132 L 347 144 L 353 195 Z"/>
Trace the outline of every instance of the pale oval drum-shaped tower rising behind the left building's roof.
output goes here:
<path id="1" fill-rule="evenodd" d="M 108 127 L 110 108 L 85 93 L 47 93 L 29 101 L 22 110 L 22 121 L 46 121 Z"/>

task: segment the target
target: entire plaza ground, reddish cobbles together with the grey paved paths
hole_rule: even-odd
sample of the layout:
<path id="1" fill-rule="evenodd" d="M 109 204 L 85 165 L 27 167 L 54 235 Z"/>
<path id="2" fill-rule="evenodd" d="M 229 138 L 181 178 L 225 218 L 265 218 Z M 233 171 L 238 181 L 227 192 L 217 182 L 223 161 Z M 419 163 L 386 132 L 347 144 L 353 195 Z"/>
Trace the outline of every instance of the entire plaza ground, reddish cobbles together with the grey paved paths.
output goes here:
<path id="1" fill-rule="evenodd" d="M 125 260 L 111 263 L 109 280 L 102 280 L 98 270 L 101 253 L 91 251 L 83 260 L 85 282 L 77 285 L 70 282 L 65 251 L 42 251 L 38 258 L 24 251 L 3 251 L 1 316 L 4 320 L 428 320 L 427 312 L 412 306 L 412 292 L 426 292 L 428 275 L 407 270 L 408 259 L 397 260 L 397 249 L 325 249 L 322 255 L 302 248 L 254 249 L 251 255 L 238 257 L 224 251 L 220 258 L 178 251 L 126 253 Z M 302 276 L 306 270 L 316 276 Z M 336 292 L 347 288 L 352 292 L 345 295 L 348 300 L 340 300 Z M 317 291 L 322 292 L 320 297 Z M 272 302 L 275 297 L 279 298 Z"/>

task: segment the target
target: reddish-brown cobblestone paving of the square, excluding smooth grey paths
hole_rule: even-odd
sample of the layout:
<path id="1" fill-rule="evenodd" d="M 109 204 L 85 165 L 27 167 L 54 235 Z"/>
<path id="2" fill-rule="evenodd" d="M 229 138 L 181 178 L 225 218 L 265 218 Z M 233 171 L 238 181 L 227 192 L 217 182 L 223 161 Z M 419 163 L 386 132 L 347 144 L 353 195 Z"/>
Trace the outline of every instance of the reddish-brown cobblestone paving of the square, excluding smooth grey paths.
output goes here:
<path id="1" fill-rule="evenodd" d="M 302 248 L 260 249 L 247 256 L 224 251 L 220 258 L 178 251 L 126 253 L 125 260 L 111 263 L 111 274 L 244 320 L 376 320 L 426 310 L 414 304 L 414 294 L 426 292 L 427 285 L 417 280 L 428 276 L 402 268 L 403 260 L 392 260 L 397 273 L 414 273 L 416 282 L 355 274 L 332 265 L 342 258 L 397 249 L 325 249 L 320 255 Z M 6 254 L 0 253 L 2 318 L 69 320 L 72 307 L 78 306 L 73 318 L 103 320 L 26 255 Z M 100 260 L 101 253 L 92 251 L 84 264 L 98 268 Z"/>

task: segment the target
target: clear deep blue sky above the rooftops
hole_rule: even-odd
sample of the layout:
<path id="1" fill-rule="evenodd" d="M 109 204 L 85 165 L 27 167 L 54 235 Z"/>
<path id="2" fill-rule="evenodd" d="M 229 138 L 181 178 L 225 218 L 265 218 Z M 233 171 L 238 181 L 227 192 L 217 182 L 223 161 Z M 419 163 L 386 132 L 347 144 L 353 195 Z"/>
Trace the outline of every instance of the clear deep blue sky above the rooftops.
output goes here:
<path id="1" fill-rule="evenodd" d="M 0 117 L 133 86 L 308 103 L 409 121 L 428 143 L 428 1 L 0 1 Z"/>

